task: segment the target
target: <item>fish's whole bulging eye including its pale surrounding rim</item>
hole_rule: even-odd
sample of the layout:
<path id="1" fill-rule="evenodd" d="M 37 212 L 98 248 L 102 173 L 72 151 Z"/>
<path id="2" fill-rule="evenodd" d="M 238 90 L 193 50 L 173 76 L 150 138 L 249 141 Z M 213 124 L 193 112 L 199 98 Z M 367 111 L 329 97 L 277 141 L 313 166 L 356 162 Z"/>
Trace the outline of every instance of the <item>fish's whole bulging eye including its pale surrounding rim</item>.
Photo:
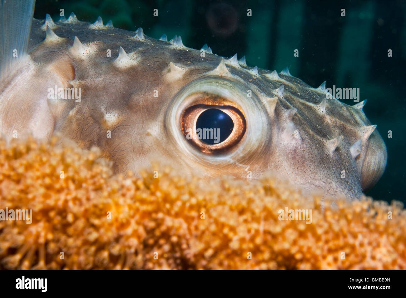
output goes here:
<path id="1" fill-rule="evenodd" d="M 203 167 L 246 165 L 272 140 L 268 111 L 247 86 L 227 78 L 201 77 L 181 88 L 166 107 L 164 133 L 185 160 Z M 264 123 L 266 125 L 264 125 Z"/>

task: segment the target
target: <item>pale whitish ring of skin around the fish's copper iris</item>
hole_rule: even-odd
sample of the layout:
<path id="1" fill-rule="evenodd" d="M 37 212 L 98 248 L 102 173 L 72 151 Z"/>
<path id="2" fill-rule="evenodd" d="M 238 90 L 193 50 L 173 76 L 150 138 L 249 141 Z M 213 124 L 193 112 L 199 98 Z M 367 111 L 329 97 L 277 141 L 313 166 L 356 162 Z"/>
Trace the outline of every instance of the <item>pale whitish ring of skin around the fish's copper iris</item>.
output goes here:
<path id="1" fill-rule="evenodd" d="M 246 154 L 254 154 L 267 145 L 270 137 L 269 116 L 261 100 L 252 92 L 247 96 L 248 87 L 240 82 L 218 77 L 204 77 L 194 80 L 180 90 L 168 105 L 165 115 L 165 129 L 168 139 L 180 152 L 184 159 L 191 159 L 204 165 L 222 165 L 241 159 Z M 218 155 L 201 152 L 190 144 L 180 129 L 181 116 L 187 107 L 192 105 L 192 94 L 209 93 L 232 100 L 235 107 L 245 116 L 246 131 L 233 150 Z"/>

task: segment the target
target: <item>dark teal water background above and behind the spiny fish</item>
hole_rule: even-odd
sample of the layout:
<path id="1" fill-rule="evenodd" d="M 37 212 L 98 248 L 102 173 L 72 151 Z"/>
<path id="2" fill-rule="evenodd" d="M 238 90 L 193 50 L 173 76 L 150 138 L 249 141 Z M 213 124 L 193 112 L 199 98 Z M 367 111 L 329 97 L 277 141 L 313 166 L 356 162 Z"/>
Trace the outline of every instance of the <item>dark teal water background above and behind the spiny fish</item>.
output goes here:
<path id="1" fill-rule="evenodd" d="M 142 27 L 156 39 L 163 33 L 168 39 L 181 35 L 187 47 L 207 43 L 219 56 L 245 55 L 250 66 L 278 72 L 288 66 L 313 87 L 326 81 L 326 88 L 359 88 L 359 100 L 368 99 L 363 110 L 378 125 L 388 150 L 384 175 L 366 194 L 406 203 L 405 0 L 37 0 L 34 17 L 49 13 L 57 21 L 60 9 L 80 21 L 93 23 L 100 15 L 104 24 L 111 19 L 117 28 Z"/>

